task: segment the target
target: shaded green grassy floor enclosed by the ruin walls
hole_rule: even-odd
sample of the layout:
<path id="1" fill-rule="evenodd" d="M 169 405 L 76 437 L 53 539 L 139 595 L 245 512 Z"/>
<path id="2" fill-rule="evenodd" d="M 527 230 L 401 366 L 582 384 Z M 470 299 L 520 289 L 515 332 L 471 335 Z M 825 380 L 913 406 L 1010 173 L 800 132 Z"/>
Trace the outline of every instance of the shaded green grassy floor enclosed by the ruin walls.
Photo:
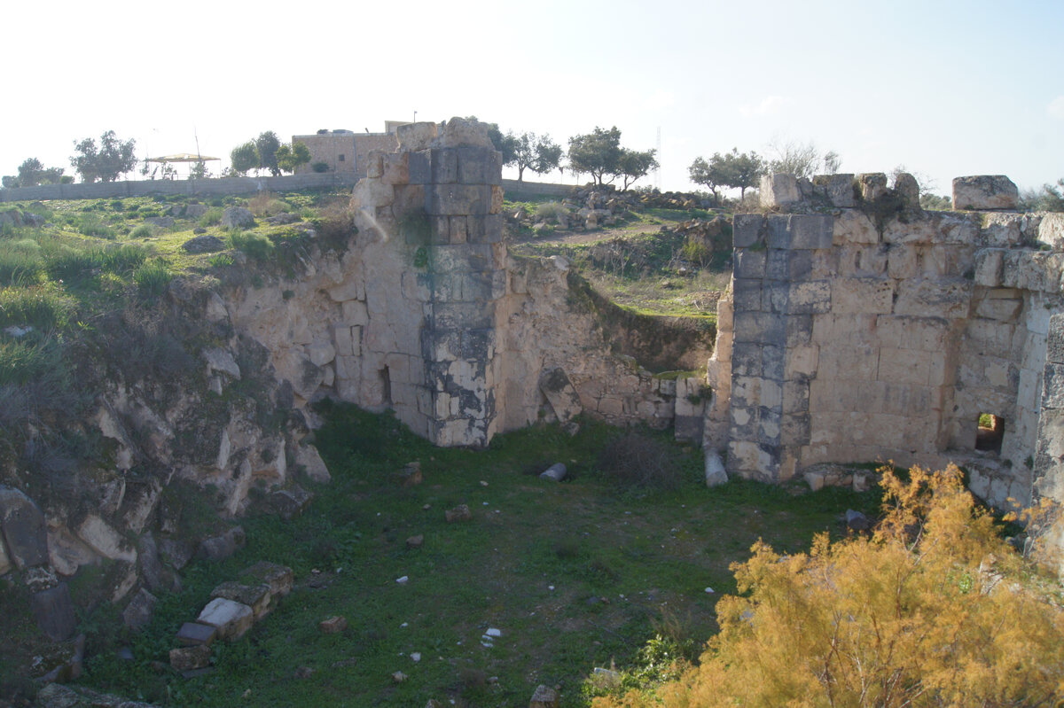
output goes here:
<path id="1" fill-rule="evenodd" d="M 95 644 L 109 648 L 83 681 L 165 705 L 352 707 L 431 697 L 516 706 L 547 684 L 561 687 L 563 706 L 583 706 L 593 669 L 631 664 L 655 631 L 704 641 L 716 600 L 735 589 L 729 563 L 758 538 L 804 549 L 813 534 L 838 532 L 846 508 L 877 503 L 746 482 L 706 489 L 699 451 L 654 437 L 647 444 L 663 451 L 677 486 L 633 487 L 598 461 L 629 433 L 589 422 L 575 437 L 537 426 L 476 452 L 434 449 L 352 407 L 326 416 L 318 440 L 334 478 L 315 489 L 311 508 L 290 522 L 245 520 L 247 547 L 186 569 L 184 591 L 161 599 L 142 635 L 101 636 Z M 395 474 L 415 459 L 425 482 L 401 487 Z M 570 481 L 529 474 L 555 461 L 568 465 Z M 445 522 L 458 504 L 472 521 Z M 414 535 L 422 547 L 406 547 Z M 296 572 L 279 609 L 240 641 L 217 645 L 214 673 L 186 680 L 153 669 L 211 589 L 257 560 Z M 409 581 L 397 583 L 402 576 Z M 317 623 L 334 614 L 348 628 L 321 634 Z M 113 619 L 86 621 L 106 635 Z M 502 633 L 491 647 L 481 641 L 488 628 Z M 133 661 L 111 653 L 121 640 Z M 408 678 L 394 682 L 397 671 Z"/>

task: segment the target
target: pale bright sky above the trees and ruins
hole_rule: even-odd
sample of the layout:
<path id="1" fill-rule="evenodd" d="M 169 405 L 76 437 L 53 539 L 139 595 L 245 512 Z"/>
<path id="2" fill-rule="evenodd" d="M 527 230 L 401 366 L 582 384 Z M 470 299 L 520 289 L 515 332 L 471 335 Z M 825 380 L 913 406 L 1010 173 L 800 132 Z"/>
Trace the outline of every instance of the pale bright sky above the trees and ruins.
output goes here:
<path id="1" fill-rule="evenodd" d="M 787 142 L 835 151 L 843 172 L 904 166 L 941 195 L 960 175 L 1064 178 L 1062 0 L 59 0 L 3 15 L 0 174 L 28 157 L 73 173 L 73 144 L 109 130 L 140 158 L 196 152 L 198 136 L 228 165 L 263 131 L 380 132 L 416 112 L 563 147 L 616 125 L 622 146 L 660 148 L 637 184 L 662 189 L 696 188 L 698 156 Z"/>

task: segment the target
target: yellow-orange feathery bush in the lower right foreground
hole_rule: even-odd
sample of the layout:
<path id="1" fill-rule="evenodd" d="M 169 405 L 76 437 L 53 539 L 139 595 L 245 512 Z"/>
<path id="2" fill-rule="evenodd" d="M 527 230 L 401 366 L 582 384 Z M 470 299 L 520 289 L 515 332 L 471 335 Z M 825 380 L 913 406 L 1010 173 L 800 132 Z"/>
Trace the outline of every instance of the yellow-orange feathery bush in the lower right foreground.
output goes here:
<path id="1" fill-rule="evenodd" d="M 788 555 L 758 541 L 732 566 L 741 594 L 717 603 L 700 665 L 651 695 L 594 705 L 1060 705 L 1064 610 L 1036 555 L 1001 538 L 957 467 L 908 477 L 884 470 L 870 536 L 824 534 Z M 1038 551 L 1060 530 L 1059 507 L 1031 521 Z"/>

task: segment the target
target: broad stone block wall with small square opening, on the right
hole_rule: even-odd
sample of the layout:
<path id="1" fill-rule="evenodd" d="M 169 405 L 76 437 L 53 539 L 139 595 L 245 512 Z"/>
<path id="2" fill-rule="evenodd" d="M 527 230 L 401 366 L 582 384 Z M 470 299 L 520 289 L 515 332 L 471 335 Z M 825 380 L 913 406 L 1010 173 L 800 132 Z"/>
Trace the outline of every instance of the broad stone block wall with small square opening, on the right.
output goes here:
<path id="1" fill-rule="evenodd" d="M 979 496 L 1026 505 L 1048 469 L 1045 401 L 1061 397 L 1047 338 L 1064 215 L 924 212 L 899 184 L 774 175 L 763 204 L 805 213 L 735 217 L 706 443 L 729 473 L 769 482 L 822 462 L 954 461 Z M 987 193 L 963 206 L 1001 208 Z M 976 450 L 981 414 L 1004 421 L 999 454 Z"/>

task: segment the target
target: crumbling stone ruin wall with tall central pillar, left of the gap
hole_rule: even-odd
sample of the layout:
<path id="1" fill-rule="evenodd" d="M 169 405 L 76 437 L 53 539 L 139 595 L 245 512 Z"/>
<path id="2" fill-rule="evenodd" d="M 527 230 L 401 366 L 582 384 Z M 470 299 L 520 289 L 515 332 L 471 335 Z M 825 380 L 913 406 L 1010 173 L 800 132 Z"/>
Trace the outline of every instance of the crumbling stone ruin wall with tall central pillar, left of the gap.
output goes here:
<path id="1" fill-rule="evenodd" d="M 701 377 L 663 380 L 612 353 L 593 308 L 575 302 L 564 258 L 509 256 L 500 156 L 482 125 L 416 123 L 398 139 L 367 158 L 346 253 L 304 263 L 297 281 L 226 293 L 234 326 L 271 352 L 298 407 L 331 395 L 393 409 L 438 445 L 485 445 L 580 410 L 679 421 L 679 437 L 700 440 Z M 543 383 L 558 369 L 555 395 Z"/>

